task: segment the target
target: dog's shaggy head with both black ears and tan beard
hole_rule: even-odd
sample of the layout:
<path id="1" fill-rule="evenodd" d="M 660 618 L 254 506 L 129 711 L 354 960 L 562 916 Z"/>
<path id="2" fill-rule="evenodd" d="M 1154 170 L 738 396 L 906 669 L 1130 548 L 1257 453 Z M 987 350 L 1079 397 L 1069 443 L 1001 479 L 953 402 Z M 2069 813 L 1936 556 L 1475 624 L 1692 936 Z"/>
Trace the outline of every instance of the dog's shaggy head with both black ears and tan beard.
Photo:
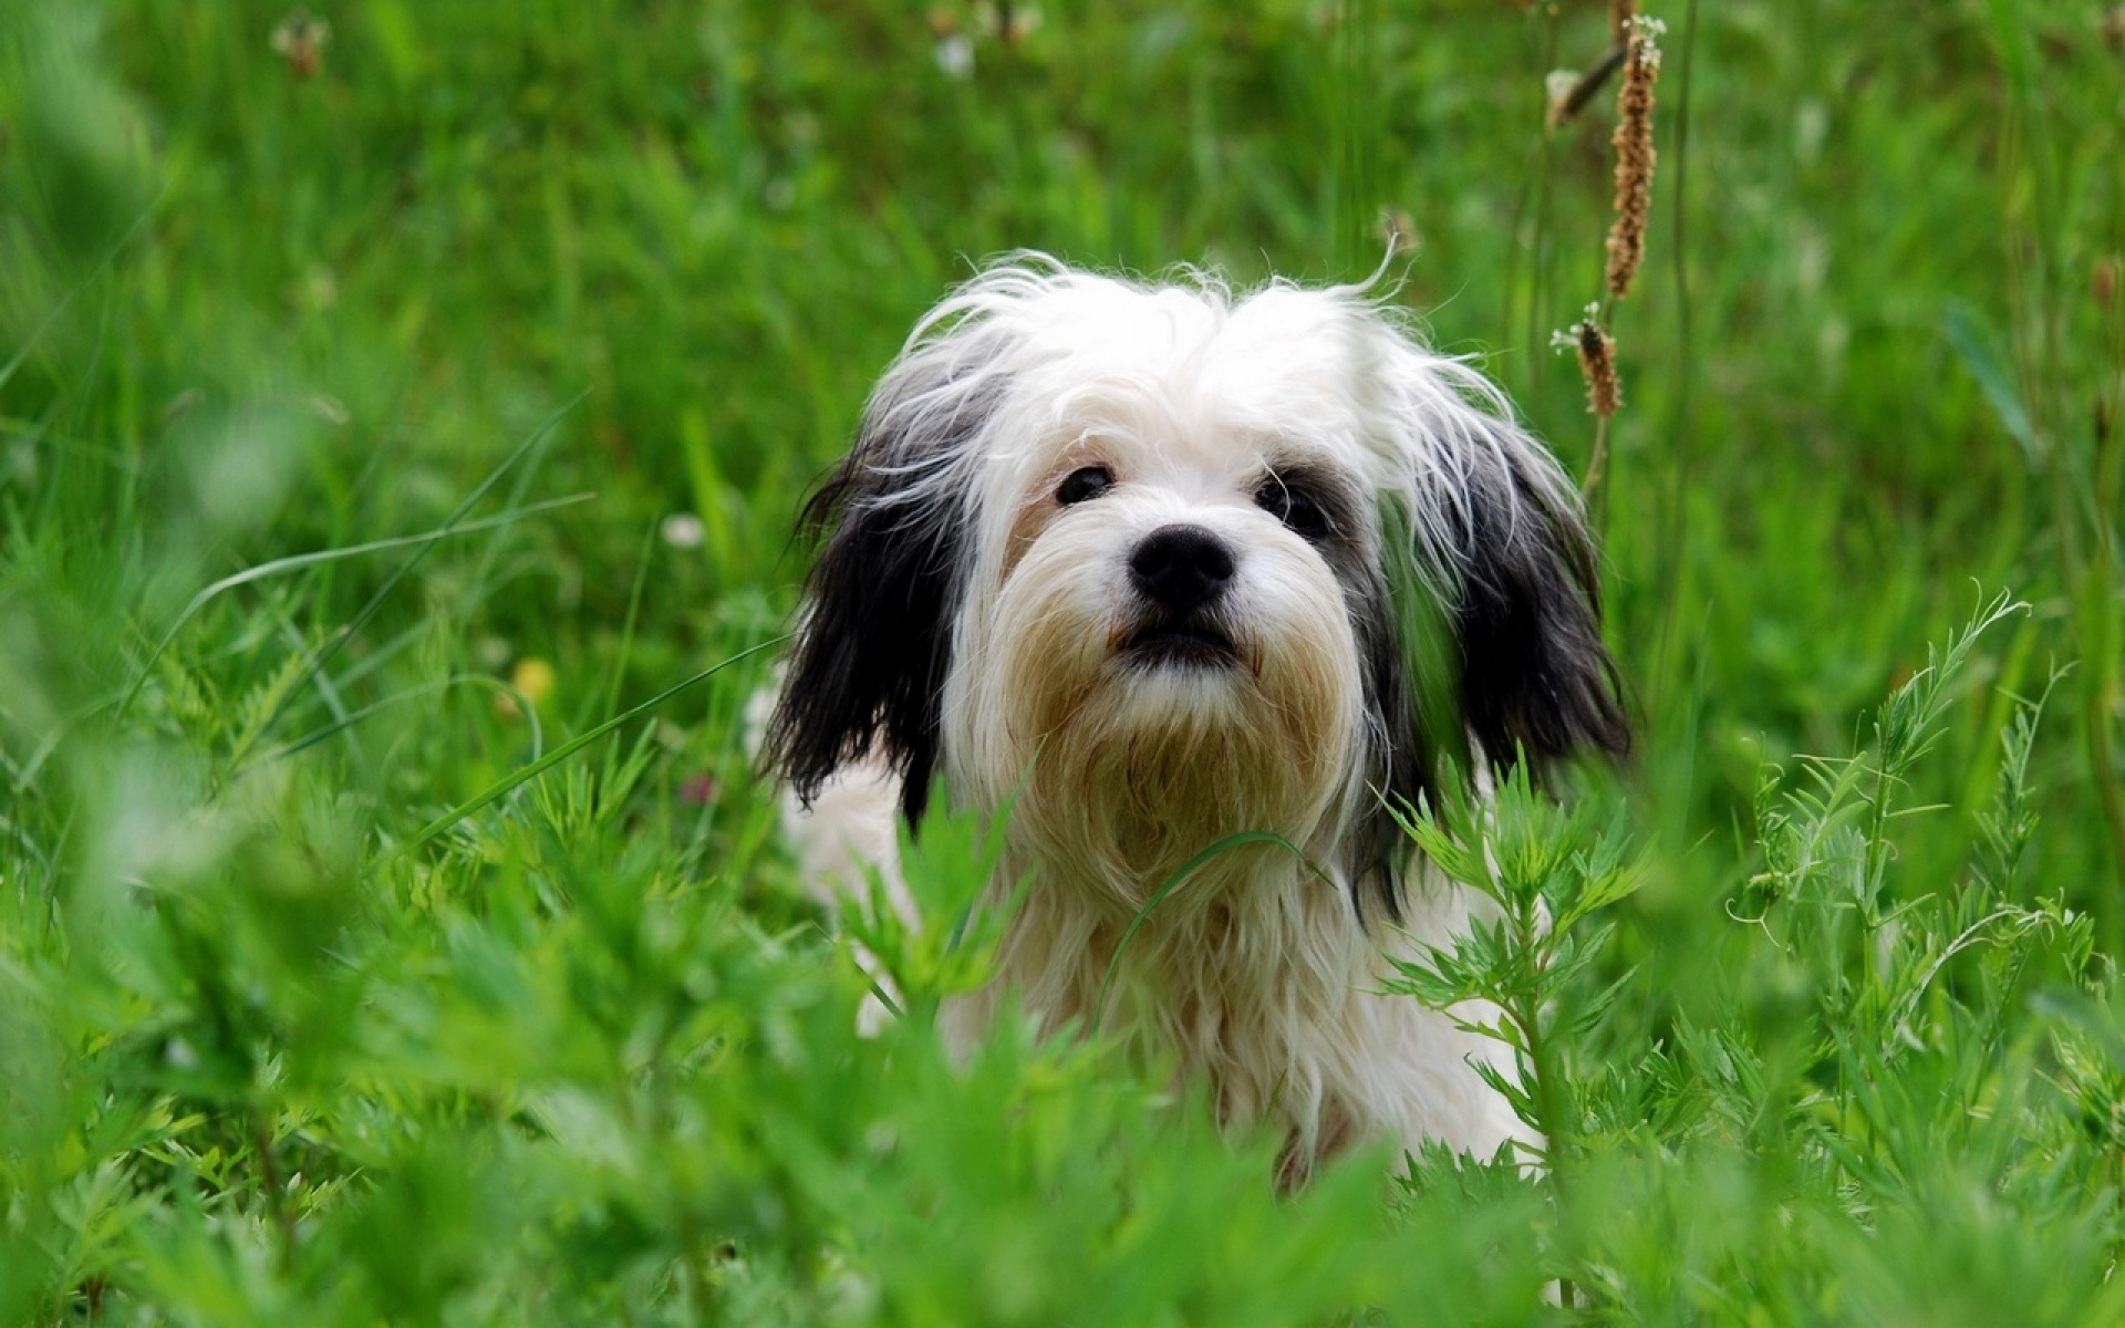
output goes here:
<path id="1" fill-rule="evenodd" d="M 1628 744 L 1570 484 L 1356 289 L 997 266 L 916 327 L 808 518 L 767 733 L 799 797 L 878 754 L 910 820 L 937 773 L 1022 790 L 1014 833 L 1124 890 L 1262 829 L 1392 907 L 1381 805 L 1443 754 Z"/>

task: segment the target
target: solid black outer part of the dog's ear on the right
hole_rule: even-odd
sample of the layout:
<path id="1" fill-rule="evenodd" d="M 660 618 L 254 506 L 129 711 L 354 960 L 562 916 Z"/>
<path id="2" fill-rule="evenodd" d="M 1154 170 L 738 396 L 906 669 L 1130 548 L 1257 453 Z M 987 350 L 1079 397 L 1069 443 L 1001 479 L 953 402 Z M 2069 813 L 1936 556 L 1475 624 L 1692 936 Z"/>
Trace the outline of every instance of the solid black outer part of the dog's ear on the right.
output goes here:
<path id="1" fill-rule="evenodd" d="M 1462 470 L 1460 710 L 1494 765 L 1534 773 L 1581 750 L 1630 750 L 1621 688 L 1600 640 L 1600 569 L 1579 497 L 1534 438 L 1479 416 Z"/>

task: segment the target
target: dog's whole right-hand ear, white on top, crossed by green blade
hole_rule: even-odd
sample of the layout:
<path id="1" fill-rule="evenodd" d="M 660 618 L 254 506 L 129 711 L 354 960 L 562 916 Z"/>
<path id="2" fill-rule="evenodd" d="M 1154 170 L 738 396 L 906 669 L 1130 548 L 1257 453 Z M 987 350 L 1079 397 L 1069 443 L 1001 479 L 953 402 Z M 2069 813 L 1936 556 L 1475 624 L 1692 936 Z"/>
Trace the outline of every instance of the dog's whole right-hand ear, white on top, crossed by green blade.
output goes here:
<path id="1" fill-rule="evenodd" d="M 1360 399 L 1379 412 L 1379 565 L 1352 614 L 1379 805 L 1354 839 L 1352 880 L 1377 882 L 1392 918 L 1411 858 L 1398 807 L 1458 797 L 1449 773 L 1483 763 L 1524 756 L 1541 776 L 1575 752 L 1621 756 L 1630 725 L 1564 470 L 1468 361 L 1424 348 L 1379 306 L 1358 327 Z"/>

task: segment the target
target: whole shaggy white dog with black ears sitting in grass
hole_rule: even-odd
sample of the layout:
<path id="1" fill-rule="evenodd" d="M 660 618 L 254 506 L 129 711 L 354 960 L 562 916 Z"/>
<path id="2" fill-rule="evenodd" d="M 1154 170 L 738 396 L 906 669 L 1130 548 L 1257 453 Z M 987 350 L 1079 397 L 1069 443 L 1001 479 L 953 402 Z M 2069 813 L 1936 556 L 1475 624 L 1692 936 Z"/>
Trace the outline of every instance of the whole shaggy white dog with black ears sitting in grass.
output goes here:
<path id="1" fill-rule="evenodd" d="M 1502 1048 L 1381 994 L 1475 890 L 1390 803 L 1441 754 L 1621 752 L 1577 493 L 1504 397 L 1362 287 L 1232 295 L 1016 255 L 929 312 L 812 499 L 824 548 L 765 754 L 816 878 L 895 882 L 895 818 L 1012 801 L 999 980 L 1205 1075 L 1290 1175 L 1349 1141 L 1526 1137 Z"/>

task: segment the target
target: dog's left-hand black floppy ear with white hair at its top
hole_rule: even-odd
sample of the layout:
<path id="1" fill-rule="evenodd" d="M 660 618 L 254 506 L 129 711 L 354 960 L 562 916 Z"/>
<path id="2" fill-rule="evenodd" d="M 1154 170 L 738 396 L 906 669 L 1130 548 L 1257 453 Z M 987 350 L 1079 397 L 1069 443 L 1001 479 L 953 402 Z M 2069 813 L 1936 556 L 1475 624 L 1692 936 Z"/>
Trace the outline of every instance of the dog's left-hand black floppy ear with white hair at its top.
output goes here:
<path id="1" fill-rule="evenodd" d="M 805 805 L 842 765 L 880 756 L 910 824 L 929 801 L 975 516 L 967 467 L 1003 395 L 1001 374 L 954 340 L 971 338 L 895 363 L 799 523 L 824 546 L 763 759 Z"/>

